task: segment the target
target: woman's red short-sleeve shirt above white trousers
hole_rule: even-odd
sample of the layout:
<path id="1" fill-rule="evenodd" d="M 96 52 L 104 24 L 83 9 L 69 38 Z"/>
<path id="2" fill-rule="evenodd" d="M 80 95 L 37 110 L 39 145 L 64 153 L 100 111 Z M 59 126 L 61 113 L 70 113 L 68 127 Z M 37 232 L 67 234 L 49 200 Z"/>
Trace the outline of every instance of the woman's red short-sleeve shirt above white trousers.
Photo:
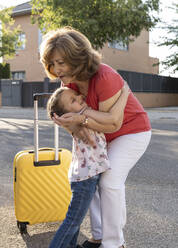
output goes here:
<path id="1" fill-rule="evenodd" d="M 105 101 L 115 95 L 124 85 L 122 77 L 111 67 L 101 64 L 97 73 L 90 79 L 86 102 L 92 109 L 99 109 L 99 102 Z M 69 88 L 78 90 L 72 83 Z M 106 140 L 111 140 L 121 135 L 139 133 L 151 129 L 147 113 L 137 98 L 130 93 L 124 110 L 122 127 L 114 133 L 106 133 Z"/>

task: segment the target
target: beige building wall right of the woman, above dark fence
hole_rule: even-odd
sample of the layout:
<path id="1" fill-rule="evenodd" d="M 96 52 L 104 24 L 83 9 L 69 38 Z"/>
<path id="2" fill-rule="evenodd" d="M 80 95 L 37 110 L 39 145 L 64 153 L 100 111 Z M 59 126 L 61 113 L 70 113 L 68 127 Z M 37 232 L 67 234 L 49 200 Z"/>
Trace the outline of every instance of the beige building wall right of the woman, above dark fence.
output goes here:
<path id="1" fill-rule="evenodd" d="M 130 42 L 128 51 L 109 48 L 108 44 L 102 49 L 103 62 L 116 70 L 136 71 L 158 74 L 159 67 L 153 67 L 158 59 L 149 57 L 149 33 L 142 31 L 134 42 Z"/>

